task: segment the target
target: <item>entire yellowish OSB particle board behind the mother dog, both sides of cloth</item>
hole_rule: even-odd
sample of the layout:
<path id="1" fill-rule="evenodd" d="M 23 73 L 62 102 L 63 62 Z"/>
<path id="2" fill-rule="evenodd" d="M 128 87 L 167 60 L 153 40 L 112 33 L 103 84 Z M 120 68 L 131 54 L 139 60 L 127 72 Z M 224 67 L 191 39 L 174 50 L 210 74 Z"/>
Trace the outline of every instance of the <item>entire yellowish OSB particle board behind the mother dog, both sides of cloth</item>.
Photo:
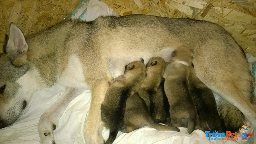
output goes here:
<path id="1" fill-rule="evenodd" d="M 225 28 L 256 56 L 256 0 L 102 0 L 118 15 L 148 14 L 208 20 Z M 0 46 L 9 22 L 28 35 L 62 20 L 79 0 L 0 0 Z"/>

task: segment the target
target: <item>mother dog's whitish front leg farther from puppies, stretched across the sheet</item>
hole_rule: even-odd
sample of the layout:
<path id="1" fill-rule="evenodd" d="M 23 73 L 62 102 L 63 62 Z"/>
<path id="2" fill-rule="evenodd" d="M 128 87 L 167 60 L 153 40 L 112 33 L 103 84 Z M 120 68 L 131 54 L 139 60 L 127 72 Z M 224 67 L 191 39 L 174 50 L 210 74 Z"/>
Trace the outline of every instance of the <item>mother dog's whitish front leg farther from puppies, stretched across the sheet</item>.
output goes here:
<path id="1" fill-rule="evenodd" d="M 40 117 L 38 123 L 38 131 L 41 144 L 55 143 L 53 131 L 56 129 L 60 116 L 74 98 L 81 94 L 83 89 L 67 88 L 60 100 L 56 101 L 44 114 Z"/>

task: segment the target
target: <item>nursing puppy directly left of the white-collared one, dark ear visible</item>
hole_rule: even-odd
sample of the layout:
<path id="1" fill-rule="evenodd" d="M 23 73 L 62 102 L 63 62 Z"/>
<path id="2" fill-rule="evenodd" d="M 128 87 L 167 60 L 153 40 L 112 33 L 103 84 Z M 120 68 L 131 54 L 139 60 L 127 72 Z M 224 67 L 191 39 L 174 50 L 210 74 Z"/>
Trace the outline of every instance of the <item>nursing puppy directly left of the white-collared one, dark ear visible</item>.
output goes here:
<path id="1" fill-rule="evenodd" d="M 152 57 L 147 63 L 147 74 L 138 91 L 140 97 L 146 102 L 150 116 L 155 120 L 166 122 L 169 114 L 164 109 L 164 95 L 159 92 L 159 86 L 164 75 L 165 61 L 161 57 Z M 169 113 L 169 110 L 168 112 Z M 165 123 L 166 124 L 166 123 Z"/>

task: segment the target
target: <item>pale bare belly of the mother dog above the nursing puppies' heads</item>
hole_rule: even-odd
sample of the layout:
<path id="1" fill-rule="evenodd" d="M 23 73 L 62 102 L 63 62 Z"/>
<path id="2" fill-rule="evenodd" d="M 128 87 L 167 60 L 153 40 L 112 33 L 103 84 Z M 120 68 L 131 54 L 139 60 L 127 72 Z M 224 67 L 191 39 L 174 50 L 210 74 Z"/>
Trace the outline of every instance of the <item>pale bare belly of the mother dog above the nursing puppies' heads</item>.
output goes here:
<path id="1" fill-rule="evenodd" d="M 129 49 L 129 51 L 116 51 L 111 53 L 108 60 L 108 70 L 110 75 L 113 78 L 116 78 L 124 74 L 124 67 L 130 62 L 135 60 L 144 60 L 146 65 L 150 58 L 152 57 L 162 57 L 164 61 L 170 61 L 172 52 L 175 50 L 175 47 L 164 47 L 158 52 L 156 50 L 150 50 L 148 52 L 141 52 L 135 49 Z M 145 51 L 145 50 L 143 50 Z"/>

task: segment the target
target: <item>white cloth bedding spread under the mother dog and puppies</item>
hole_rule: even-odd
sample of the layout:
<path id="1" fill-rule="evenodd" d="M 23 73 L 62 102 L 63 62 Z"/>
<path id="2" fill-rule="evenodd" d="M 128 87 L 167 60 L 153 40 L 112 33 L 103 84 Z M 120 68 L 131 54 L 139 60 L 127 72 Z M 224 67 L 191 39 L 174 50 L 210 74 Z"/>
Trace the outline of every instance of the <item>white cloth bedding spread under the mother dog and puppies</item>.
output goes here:
<path id="1" fill-rule="evenodd" d="M 73 12 L 72 19 L 93 20 L 101 15 L 116 15 L 107 4 L 98 0 L 82 0 L 81 4 Z M 248 56 L 249 58 L 249 56 Z M 254 65 L 254 57 L 249 58 L 251 66 Z M 253 63 L 254 62 L 254 63 Z M 253 71 L 253 70 L 252 70 Z M 50 108 L 56 100 L 64 93 L 64 88 L 60 85 L 54 85 L 49 89 L 38 90 L 32 96 L 27 108 L 22 116 L 12 125 L 0 130 L 0 143 L 10 144 L 36 144 L 39 142 L 39 133 L 37 124 L 40 116 L 45 110 Z M 54 136 L 57 144 L 82 144 L 84 141 L 84 125 L 88 115 L 88 110 L 91 101 L 90 91 L 85 91 L 78 95 L 70 102 L 65 112 L 61 116 L 57 128 L 54 131 Z M 248 123 L 250 125 L 250 123 Z M 252 125 L 251 125 L 252 126 Z M 256 135 L 256 130 L 249 128 L 248 132 Z M 102 135 L 105 140 L 108 139 L 109 129 L 104 128 Z M 241 137 L 238 140 L 206 140 L 206 135 L 203 131 L 195 130 L 192 134 L 188 134 L 187 128 L 180 128 L 180 132 L 160 132 L 149 126 L 145 126 L 130 133 L 119 132 L 114 143 L 119 144 L 198 144 L 198 143 L 214 143 L 214 144 L 230 144 L 230 143 L 245 143 Z M 246 143 L 256 143 L 256 136 L 252 136 Z"/>

